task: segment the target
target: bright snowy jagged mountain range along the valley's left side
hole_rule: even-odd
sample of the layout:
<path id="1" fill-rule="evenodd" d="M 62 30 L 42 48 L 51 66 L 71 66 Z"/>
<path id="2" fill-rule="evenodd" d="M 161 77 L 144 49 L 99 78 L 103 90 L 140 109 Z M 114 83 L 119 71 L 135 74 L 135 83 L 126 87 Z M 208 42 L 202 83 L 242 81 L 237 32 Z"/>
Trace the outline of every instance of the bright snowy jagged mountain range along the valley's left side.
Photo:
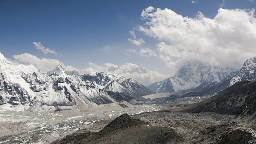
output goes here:
<path id="1" fill-rule="evenodd" d="M 117 74 L 93 72 L 79 76 L 78 72 L 66 70 L 62 63 L 44 74 L 32 65 L 12 65 L 2 53 L 0 75 L 0 108 L 17 111 L 124 106 L 129 103 L 123 100 L 152 94 L 142 84 Z M 124 98 L 115 99 L 116 94 Z"/>

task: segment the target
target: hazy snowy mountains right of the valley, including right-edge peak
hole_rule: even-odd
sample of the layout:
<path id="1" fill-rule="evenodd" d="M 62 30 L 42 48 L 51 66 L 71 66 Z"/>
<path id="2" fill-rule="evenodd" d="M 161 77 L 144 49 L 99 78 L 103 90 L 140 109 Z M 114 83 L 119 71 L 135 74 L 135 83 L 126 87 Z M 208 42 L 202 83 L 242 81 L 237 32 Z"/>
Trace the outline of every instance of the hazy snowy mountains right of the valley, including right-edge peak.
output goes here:
<path id="1" fill-rule="evenodd" d="M 242 80 L 256 81 L 256 57 L 247 59 L 240 70 L 188 62 L 174 76 L 147 87 L 157 93 L 216 93 Z"/>

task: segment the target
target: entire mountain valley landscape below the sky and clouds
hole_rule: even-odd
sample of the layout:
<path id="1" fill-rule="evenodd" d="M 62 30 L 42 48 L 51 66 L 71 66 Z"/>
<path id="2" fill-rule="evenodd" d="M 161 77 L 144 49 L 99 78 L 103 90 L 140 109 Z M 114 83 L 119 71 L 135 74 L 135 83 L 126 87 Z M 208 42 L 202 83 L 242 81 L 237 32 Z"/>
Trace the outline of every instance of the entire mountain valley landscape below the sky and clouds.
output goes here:
<path id="1" fill-rule="evenodd" d="M 237 72 L 188 62 L 146 87 L 63 63 L 45 74 L 1 54 L 0 144 L 234 143 L 230 133 L 252 144 L 255 59 Z"/>

